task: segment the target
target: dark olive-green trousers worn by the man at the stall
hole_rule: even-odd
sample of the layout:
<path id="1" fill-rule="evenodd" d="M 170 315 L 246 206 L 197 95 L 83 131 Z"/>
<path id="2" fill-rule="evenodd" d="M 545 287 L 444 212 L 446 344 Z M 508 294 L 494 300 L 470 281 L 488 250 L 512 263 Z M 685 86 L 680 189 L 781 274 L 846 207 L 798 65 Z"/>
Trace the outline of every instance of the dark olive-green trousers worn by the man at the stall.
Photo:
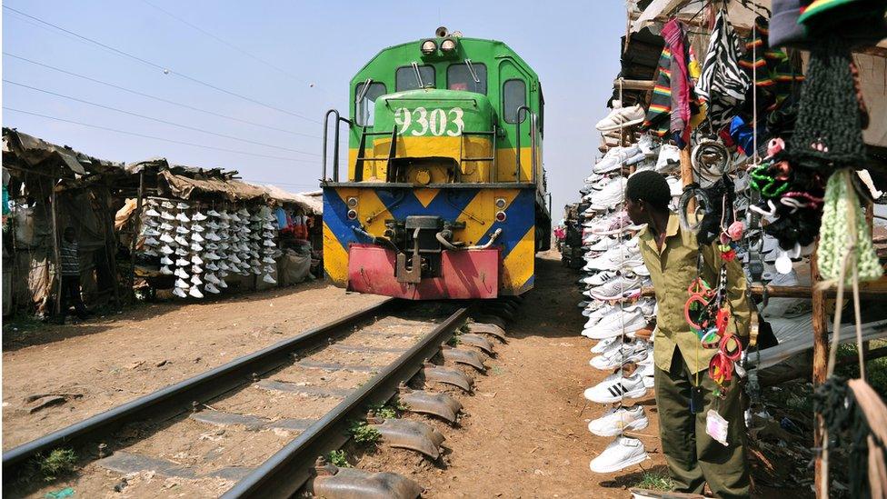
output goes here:
<path id="1" fill-rule="evenodd" d="M 705 396 L 700 414 L 690 413 L 690 389 L 702 384 Z M 708 483 L 718 497 L 748 497 L 749 470 L 745 455 L 745 422 L 742 416 L 742 384 L 737 376 L 728 384 L 726 398 L 713 394 L 717 385 L 708 373 L 697 375 L 675 347 L 668 371 L 655 369 L 659 434 L 669 474 L 678 492 L 702 494 Z M 714 409 L 729 422 L 724 446 L 705 433 L 705 417 Z"/>

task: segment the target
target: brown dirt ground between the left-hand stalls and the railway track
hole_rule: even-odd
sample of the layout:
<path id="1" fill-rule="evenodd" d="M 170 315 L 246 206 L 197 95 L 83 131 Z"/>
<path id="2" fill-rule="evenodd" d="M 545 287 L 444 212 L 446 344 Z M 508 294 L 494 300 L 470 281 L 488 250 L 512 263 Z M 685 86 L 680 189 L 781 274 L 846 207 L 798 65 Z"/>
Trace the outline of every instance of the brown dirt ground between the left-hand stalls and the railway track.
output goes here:
<path id="1" fill-rule="evenodd" d="M 3 331 L 3 448 L 24 444 L 382 298 L 322 282 Z M 63 397 L 29 402 L 36 395 Z"/>

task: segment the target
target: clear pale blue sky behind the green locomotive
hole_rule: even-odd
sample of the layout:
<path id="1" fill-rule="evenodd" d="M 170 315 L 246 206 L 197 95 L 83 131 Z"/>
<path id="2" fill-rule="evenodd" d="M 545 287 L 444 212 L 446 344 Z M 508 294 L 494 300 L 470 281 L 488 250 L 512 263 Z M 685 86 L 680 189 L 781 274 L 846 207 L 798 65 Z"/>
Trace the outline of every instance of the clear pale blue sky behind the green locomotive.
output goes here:
<path id="1" fill-rule="evenodd" d="M 543 81 L 544 162 L 555 222 L 563 205 L 578 198 L 598 154 L 593 125 L 605 114 L 625 30 L 619 0 L 4 0 L 3 5 L 109 47 L 4 8 L 4 126 L 100 158 L 133 162 L 164 156 L 181 165 L 235 169 L 247 180 L 295 192 L 317 186 L 324 112 L 337 107 L 346 113 L 348 81 L 379 49 L 433 35 L 438 25 L 502 40 Z"/>

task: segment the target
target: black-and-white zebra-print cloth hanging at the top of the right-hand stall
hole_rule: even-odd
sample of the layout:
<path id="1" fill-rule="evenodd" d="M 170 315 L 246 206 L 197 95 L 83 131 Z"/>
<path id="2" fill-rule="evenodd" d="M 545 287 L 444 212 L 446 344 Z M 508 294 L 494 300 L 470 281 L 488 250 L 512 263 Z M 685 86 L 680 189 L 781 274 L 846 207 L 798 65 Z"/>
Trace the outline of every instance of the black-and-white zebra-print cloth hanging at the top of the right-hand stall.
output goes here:
<path id="1" fill-rule="evenodd" d="M 752 81 L 739 66 L 742 51 L 739 37 L 727 22 L 723 9 L 714 20 L 703 74 L 696 84 L 696 95 L 708 102 L 708 119 L 714 129 L 730 123 L 735 109 L 745 101 Z"/>

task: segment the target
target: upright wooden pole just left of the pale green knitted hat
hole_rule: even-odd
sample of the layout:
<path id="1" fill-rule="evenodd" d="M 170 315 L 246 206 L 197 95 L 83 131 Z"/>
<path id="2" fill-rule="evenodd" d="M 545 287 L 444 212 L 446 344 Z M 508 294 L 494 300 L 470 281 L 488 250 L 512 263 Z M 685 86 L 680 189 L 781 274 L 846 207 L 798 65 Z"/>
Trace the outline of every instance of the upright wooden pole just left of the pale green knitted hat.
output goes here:
<path id="1" fill-rule="evenodd" d="M 819 242 L 817 241 L 817 245 Z M 828 314 L 825 311 L 825 293 L 818 289 L 816 284 L 822 281 L 819 274 L 819 265 L 816 264 L 816 254 L 814 251 L 810 258 L 810 277 L 812 283 L 812 327 L 813 327 L 813 389 L 820 384 L 825 383 L 827 375 L 827 365 L 829 362 L 829 330 L 828 330 Z M 836 304 L 841 306 L 841 304 Z M 822 414 L 813 414 L 815 418 L 815 426 L 813 427 L 813 447 L 822 449 L 822 435 L 824 424 Z M 822 454 L 816 455 L 815 469 L 813 472 L 816 497 L 822 497 L 822 482 L 827 480 L 822 469 Z"/>

